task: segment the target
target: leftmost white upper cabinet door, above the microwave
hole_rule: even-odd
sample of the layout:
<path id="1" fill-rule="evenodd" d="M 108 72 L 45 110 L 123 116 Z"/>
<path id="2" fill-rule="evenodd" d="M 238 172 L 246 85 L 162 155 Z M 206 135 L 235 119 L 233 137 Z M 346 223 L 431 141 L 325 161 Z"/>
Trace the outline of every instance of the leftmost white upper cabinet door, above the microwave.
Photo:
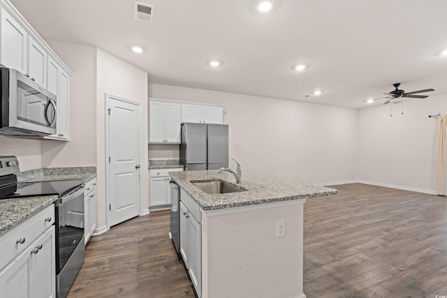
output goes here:
<path id="1" fill-rule="evenodd" d="M 1 64 L 27 73 L 27 31 L 1 8 Z"/>

